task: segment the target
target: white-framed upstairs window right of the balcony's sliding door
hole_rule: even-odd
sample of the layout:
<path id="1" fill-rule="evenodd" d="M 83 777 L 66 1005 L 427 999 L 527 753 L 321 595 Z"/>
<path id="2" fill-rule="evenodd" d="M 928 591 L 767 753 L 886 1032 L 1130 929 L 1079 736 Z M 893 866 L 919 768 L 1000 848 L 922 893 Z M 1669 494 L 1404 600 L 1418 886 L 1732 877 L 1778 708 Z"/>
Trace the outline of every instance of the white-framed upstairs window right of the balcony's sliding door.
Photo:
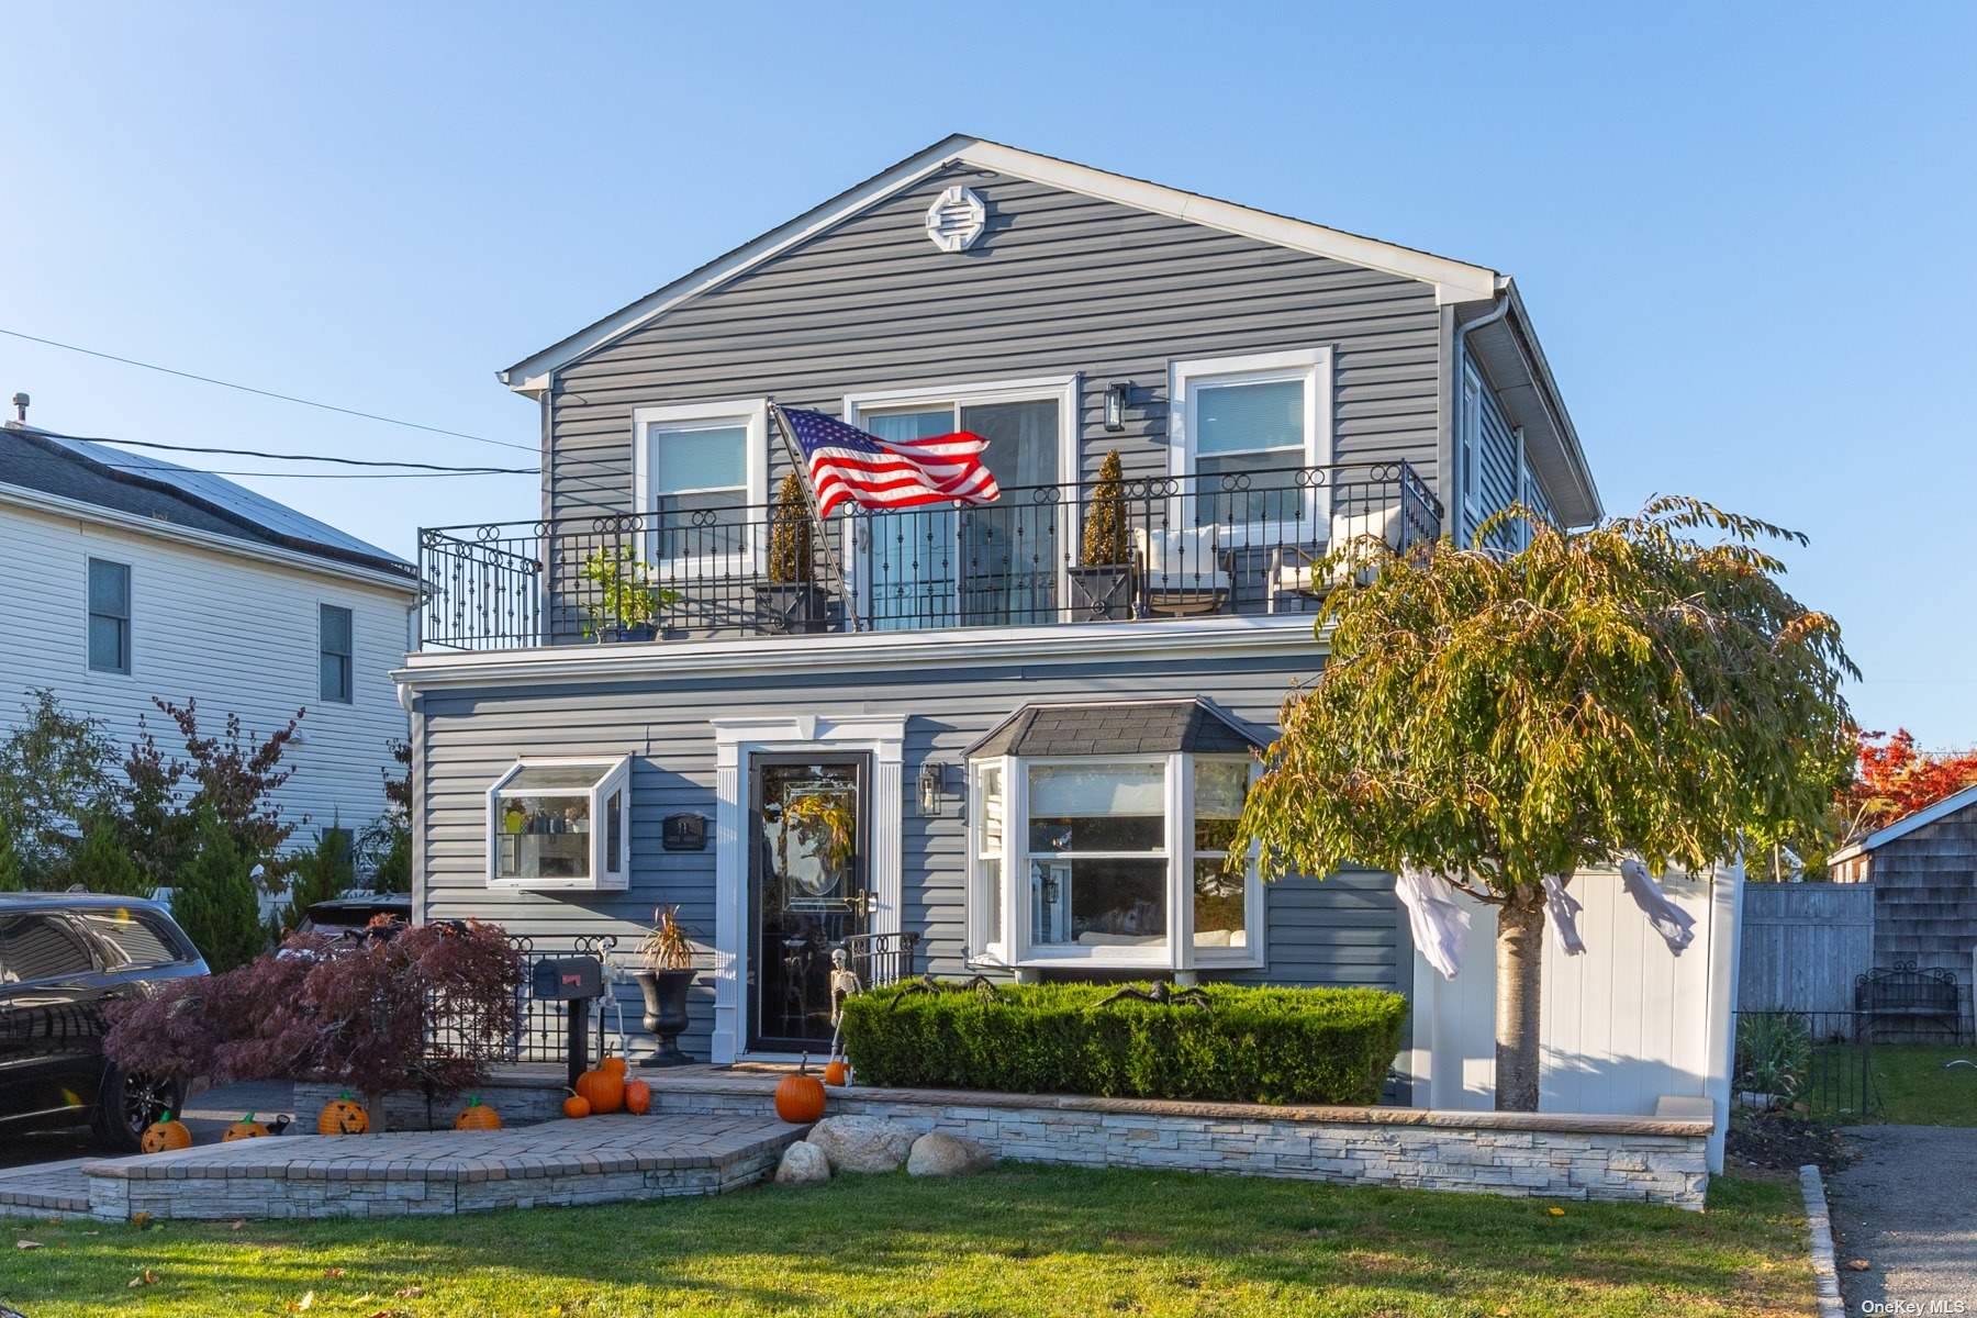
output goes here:
<path id="1" fill-rule="evenodd" d="M 1168 474 L 1192 476 L 1188 524 L 1246 528 L 1309 518 L 1323 526 L 1332 462 L 1332 350 L 1299 348 L 1172 362 L 1166 370 Z"/>

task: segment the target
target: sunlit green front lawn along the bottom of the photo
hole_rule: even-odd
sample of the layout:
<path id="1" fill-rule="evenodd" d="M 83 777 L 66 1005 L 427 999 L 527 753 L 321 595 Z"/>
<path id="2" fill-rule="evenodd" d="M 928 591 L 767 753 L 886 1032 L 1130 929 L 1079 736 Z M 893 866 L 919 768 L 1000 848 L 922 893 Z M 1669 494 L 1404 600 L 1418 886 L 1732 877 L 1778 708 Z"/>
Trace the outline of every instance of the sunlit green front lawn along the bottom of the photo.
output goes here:
<path id="1" fill-rule="evenodd" d="M 471 1217 L 16 1223 L 0 1300 L 136 1314 L 1801 1314 L 1789 1180 L 1708 1213 L 1178 1172 L 998 1168 Z M 152 1277 L 132 1286 L 132 1278 Z M 304 1310 L 304 1298 L 306 1310 Z"/>

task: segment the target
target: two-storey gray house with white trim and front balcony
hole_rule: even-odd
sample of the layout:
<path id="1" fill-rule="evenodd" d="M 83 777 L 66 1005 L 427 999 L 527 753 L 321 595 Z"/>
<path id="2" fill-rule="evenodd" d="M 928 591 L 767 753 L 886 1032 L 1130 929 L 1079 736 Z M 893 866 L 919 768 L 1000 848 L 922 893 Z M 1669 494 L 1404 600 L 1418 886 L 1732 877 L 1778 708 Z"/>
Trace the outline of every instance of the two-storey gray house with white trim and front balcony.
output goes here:
<path id="1" fill-rule="evenodd" d="M 415 897 L 538 947 L 678 905 L 716 1061 L 820 1051 L 834 950 L 1410 990 L 1388 875 L 1224 873 L 1315 561 L 1601 514 L 1504 275 L 967 136 L 502 379 L 542 516 L 421 534 Z M 983 435 L 1002 494 L 793 526 L 771 401 Z"/>

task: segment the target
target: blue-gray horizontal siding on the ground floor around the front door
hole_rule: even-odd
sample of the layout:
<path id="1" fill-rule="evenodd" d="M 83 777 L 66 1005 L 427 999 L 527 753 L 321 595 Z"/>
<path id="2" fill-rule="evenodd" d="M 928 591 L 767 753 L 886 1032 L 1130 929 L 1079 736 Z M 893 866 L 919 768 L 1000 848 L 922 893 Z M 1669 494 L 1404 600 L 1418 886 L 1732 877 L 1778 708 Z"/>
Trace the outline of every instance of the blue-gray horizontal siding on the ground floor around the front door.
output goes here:
<path id="1" fill-rule="evenodd" d="M 1293 680 L 1315 656 L 1291 660 L 1135 660 L 1131 664 L 998 664 L 939 674 L 775 674 L 769 678 L 639 680 L 538 688 L 435 690 L 415 719 L 425 919 L 478 917 L 530 935 L 540 947 L 575 935 L 615 933 L 637 943 L 656 905 L 678 905 L 704 947 L 714 941 L 714 838 L 706 852 L 664 852 L 660 820 L 716 812 L 714 715 L 854 711 L 907 715 L 902 925 L 923 937 L 919 966 L 961 974 L 967 939 L 967 820 L 963 751 L 1026 701 L 1068 698 L 1208 696 L 1259 727 L 1275 723 Z M 516 755 L 635 755 L 631 887 L 623 893 L 526 893 L 486 887 L 486 786 Z M 915 812 L 919 765 L 949 765 L 951 798 L 939 818 Z M 1325 883 L 1265 885 L 1269 968 L 1236 978 L 1287 984 L 1368 984 L 1406 990 L 1412 948 L 1396 915 L 1392 877 L 1336 875 Z M 621 988 L 627 1026 L 639 1002 Z M 694 990 L 688 1051 L 706 1055 L 714 994 Z M 613 1020 L 615 1028 L 615 1020 Z"/>

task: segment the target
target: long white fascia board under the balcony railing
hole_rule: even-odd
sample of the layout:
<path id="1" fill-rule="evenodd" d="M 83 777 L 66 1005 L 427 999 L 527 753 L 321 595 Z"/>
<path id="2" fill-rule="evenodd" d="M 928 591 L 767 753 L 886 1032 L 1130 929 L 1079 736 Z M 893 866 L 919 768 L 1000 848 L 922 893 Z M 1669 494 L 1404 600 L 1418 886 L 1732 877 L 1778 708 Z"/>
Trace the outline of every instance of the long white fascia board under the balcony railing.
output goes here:
<path id="1" fill-rule="evenodd" d="M 540 646 L 449 654 L 421 650 L 391 674 L 411 694 L 488 684 L 615 682 L 627 678 L 741 678 L 783 672 L 953 668 L 957 664 L 1089 664 L 1178 656 L 1281 656 L 1327 652 L 1301 615 L 1174 618 L 1170 622 L 1060 622 L 981 630 L 840 632 L 652 640 L 611 646 Z"/>

